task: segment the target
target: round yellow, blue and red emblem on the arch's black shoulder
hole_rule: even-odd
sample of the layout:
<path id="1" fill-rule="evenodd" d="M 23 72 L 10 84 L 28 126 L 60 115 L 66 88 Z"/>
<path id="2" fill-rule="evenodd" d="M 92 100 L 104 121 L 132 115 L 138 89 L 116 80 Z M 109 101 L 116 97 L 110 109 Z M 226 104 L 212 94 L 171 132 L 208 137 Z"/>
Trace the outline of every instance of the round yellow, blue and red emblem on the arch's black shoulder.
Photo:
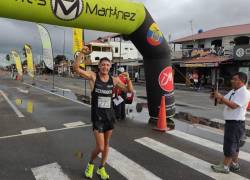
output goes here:
<path id="1" fill-rule="evenodd" d="M 147 33 L 147 41 L 152 46 L 159 46 L 163 42 L 163 34 L 156 23 L 153 23 Z"/>

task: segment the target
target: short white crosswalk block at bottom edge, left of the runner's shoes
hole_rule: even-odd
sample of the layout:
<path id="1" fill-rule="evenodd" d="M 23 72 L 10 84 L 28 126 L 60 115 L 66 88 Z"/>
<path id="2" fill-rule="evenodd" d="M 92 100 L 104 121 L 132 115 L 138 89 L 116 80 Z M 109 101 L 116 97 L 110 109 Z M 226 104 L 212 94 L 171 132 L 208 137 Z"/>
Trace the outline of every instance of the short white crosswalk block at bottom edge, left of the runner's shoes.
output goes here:
<path id="1" fill-rule="evenodd" d="M 47 164 L 31 169 L 36 180 L 70 180 L 63 173 L 61 166 L 58 163 Z"/>

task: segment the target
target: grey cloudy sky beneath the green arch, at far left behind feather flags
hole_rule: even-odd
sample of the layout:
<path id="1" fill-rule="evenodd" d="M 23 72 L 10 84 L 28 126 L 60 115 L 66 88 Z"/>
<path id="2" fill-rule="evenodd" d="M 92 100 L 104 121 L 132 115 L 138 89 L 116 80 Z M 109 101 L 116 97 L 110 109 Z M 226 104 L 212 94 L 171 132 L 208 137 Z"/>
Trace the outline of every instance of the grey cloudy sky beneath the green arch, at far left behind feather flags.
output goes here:
<path id="1" fill-rule="evenodd" d="M 67 27 L 44 25 L 49 31 L 54 56 L 72 54 L 72 30 Z M 25 43 L 32 46 L 33 53 L 42 54 L 42 42 L 35 23 L 0 18 L 0 52 L 8 53 L 12 49 L 22 52 Z M 65 38 L 64 38 L 65 32 Z M 65 43 L 64 43 L 65 42 Z"/>

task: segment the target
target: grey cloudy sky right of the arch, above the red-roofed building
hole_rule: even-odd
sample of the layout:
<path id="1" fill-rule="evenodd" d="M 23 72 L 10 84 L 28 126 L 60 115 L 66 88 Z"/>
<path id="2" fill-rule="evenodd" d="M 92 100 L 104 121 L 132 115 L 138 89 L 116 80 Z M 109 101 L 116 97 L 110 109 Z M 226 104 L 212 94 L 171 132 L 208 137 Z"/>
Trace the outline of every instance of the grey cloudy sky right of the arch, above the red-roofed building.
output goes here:
<path id="1" fill-rule="evenodd" d="M 171 32 L 174 38 L 191 34 L 190 20 L 194 32 L 250 23 L 249 0 L 146 0 L 144 4 L 163 33 Z"/>

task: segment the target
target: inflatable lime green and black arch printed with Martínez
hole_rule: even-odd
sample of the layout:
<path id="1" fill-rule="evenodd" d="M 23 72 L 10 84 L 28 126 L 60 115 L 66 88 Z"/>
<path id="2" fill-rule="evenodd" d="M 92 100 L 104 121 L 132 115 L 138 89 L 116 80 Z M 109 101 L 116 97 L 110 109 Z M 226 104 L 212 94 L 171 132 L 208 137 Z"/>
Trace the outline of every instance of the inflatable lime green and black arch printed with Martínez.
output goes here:
<path id="1" fill-rule="evenodd" d="M 142 3 L 128 0 L 1 0 L 0 17 L 120 33 L 144 59 L 149 115 L 157 119 L 166 95 L 167 116 L 174 115 L 170 49 Z"/>

